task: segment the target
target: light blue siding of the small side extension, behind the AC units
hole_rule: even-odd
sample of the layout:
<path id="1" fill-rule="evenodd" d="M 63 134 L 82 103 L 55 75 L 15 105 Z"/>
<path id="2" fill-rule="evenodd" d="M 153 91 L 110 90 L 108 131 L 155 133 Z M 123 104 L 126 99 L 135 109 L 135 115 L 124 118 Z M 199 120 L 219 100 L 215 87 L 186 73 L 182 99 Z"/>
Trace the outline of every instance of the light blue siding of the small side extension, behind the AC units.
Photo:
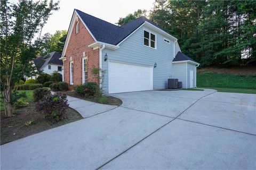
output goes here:
<path id="1" fill-rule="evenodd" d="M 182 88 L 187 88 L 187 63 L 173 64 L 173 79 L 179 79 L 182 82 Z"/>

